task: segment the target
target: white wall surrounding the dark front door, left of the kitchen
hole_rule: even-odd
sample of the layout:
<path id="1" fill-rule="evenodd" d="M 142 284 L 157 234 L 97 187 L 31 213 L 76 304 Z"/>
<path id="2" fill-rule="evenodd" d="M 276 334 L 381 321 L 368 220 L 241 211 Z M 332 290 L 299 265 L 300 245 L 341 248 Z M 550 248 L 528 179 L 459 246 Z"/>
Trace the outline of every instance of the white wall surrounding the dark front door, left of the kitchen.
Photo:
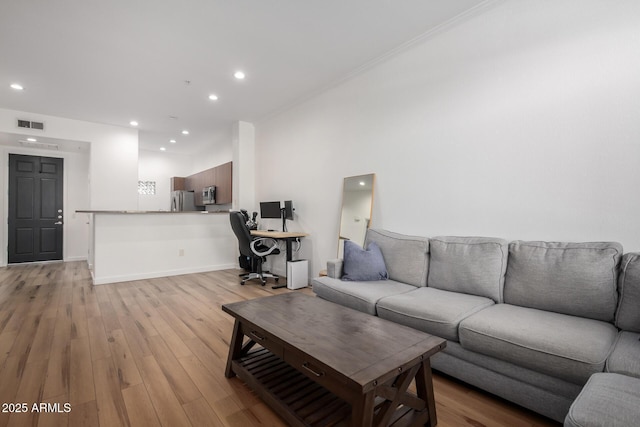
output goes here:
<path id="1" fill-rule="evenodd" d="M 42 121 L 44 131 L 24 130 L 16 119 Z M 138 176 L 138 132 L 136 130 L 64 119 L 42 114 L 0 109 L 0 132 L 35 135 L 64 142 L 89 143 L 88 152 L 55 152 L 21 147 L 0 147 L 2 154 L 2 188 L 0 244 L 5 248 L 0 265 L 6 265 L 7 255 L 7 170 L 8 154 L 31 154 L 65 159 L 65 225 L 63 258 L 66 261 L 86 259 L 88 251 L 88 217 L 76 214 L 82 209 L 136 209 Z"/>

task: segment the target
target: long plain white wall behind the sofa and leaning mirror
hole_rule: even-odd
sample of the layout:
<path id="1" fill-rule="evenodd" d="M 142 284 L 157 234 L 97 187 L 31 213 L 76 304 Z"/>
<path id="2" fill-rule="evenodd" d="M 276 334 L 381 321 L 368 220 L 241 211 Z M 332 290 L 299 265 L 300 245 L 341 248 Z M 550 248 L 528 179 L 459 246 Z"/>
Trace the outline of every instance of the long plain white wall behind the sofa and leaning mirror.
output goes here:
<path id="1" fill-rule="evenodd" d="M 342 179 L 372 225 L 640 250 L 640 2 L 505 1 L 256 124 L 257 200 L 292 199 L 310 274 Z"/>

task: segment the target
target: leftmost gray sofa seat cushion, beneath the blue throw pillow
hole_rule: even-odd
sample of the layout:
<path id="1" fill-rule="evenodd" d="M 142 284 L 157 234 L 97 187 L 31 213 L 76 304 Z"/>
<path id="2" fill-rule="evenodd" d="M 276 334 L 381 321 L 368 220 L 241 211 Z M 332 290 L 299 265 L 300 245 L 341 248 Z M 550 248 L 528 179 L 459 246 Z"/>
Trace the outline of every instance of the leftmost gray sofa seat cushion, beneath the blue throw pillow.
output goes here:
<path id="1" fill-rule="evenodd" d="M 313 292 L 320 298 L 350 307 L 372 315 L 377 315 L 376 303 L 380 298 L 413 291 L 413 285 L 395 280 L 375 282 L 345 282 L 331 277 L 318 277 L 311 281 Z"/>

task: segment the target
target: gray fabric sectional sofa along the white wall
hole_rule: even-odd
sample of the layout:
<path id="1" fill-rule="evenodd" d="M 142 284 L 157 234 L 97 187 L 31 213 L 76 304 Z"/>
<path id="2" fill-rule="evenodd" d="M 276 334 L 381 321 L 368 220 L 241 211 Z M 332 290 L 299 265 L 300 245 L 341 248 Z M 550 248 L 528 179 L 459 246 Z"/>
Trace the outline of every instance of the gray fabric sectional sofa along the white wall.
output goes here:
<path id="1" fill-rule="evenodd" d="M 640 254 L 623 255 L 614 242 L 374 229 L 365 247 L 371 242 L 387 280 L 343 281 L 342 260 L 332 260 L 327 276 L 313 279 L 315 294 L 446 338 L 434 369 L 567 425 L 614 425 L 629 410 L 640 417 L 640 394 L 627 384 L 640 384 Z M 624 383 L 631 408 L 612 414 L 590 403 L 609 396 L 611 383 Z"/>

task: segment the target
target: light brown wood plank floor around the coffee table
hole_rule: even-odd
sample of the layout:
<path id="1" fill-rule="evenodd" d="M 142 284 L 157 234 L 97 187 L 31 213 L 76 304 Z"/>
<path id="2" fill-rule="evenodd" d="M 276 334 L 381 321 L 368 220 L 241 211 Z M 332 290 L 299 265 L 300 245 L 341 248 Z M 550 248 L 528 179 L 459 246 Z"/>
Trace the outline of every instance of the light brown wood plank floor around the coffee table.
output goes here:
<path id="1" fill-rule="evenodd" d="M 220 309 L 282 292 L 240 286 L 236 270 L 92 286 L 84 262 L 0 268 L 0 427 L 283 426 L 224 377 L 232 319 Z M 439 426 L 557 425 L 434 381 Z"/>

